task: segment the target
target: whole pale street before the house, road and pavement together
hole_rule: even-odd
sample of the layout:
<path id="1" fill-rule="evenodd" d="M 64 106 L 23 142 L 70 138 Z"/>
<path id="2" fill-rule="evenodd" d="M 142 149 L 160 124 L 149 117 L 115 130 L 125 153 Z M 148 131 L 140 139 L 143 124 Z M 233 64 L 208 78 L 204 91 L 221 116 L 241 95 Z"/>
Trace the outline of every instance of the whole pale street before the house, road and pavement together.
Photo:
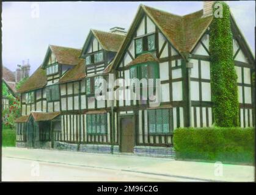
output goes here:
<path id="1" fill-rule="evenodd" d="M 254 166 L 3 147 L 2 180 L 253 182 Z"/>

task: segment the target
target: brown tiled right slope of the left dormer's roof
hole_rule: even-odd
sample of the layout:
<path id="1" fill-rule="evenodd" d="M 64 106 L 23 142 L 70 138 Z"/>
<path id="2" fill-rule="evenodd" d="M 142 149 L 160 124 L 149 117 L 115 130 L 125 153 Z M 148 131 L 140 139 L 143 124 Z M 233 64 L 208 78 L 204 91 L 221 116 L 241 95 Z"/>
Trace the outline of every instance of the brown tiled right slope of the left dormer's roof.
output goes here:
<path id="1" fill-rule="evenodd" d="M 56 57 L 56 60 L 60 64 L 64 65 L 77 65 L 79 62 L 79 55 L 81 49 L 66 48 L 62 46 L 50 45 L 49 48 Z"/>

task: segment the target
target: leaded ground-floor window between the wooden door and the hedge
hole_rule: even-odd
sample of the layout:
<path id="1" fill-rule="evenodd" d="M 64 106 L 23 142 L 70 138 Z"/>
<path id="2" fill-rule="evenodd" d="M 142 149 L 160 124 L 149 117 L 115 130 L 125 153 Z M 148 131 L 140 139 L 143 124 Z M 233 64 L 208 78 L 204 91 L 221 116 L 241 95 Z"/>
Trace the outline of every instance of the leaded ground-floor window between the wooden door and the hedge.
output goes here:
<path id="1" fill-rule="evenodd" d="M 170 110 L 148 110 L 149 133 L 163 134 L 170 132 Z"/>

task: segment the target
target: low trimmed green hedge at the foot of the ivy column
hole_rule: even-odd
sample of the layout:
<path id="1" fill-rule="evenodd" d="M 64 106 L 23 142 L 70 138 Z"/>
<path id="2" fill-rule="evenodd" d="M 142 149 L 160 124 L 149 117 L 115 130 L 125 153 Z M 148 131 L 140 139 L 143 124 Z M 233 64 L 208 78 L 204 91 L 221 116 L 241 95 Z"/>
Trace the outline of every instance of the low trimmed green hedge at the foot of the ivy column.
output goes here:
<path id="1" fill-rule="evenodd" d="M 205 127 L 174 131 L 176 158 L 254 163 L 254 128 Z"/>

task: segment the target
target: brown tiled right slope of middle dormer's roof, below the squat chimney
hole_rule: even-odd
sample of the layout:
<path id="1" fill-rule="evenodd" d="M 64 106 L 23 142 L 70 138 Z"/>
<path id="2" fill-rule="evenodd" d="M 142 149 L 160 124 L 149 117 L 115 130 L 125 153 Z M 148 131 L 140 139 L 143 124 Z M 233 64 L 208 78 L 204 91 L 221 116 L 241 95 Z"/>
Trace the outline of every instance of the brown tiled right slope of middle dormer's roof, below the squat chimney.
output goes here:
<path id="1" fill-rule="evenodd" d="M 115 34 L 112 32 L 103 32 L 101 30 L 92 29 L 92 33 L 106 51 L 117 52 L 125 39 L 125 35 Z"/>

